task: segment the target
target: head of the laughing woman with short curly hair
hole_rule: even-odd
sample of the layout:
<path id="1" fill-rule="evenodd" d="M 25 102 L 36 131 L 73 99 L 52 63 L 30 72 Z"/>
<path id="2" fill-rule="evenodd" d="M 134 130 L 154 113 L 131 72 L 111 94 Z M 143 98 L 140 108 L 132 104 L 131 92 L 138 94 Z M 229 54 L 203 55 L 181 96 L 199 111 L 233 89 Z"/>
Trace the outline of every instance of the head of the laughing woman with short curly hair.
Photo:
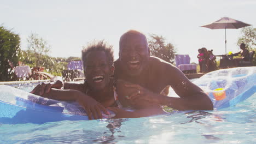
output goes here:
<path id="1" fill-rule="evenodd" d="M 114 73 L 112 46 L 107 47 L 103 41 L 96 45 L 89 45 L 82 51 L 82 59 L 86 82 L 90 89 L 97 91 L 107 88 L 110 77 Z"/>

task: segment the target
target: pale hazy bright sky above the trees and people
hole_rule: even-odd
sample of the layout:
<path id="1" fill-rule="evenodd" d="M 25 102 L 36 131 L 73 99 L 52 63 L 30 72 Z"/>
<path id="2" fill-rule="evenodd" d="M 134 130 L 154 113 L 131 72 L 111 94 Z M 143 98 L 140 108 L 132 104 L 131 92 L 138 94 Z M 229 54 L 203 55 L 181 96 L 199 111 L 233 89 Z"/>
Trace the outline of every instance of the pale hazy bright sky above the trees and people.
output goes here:
<path id="1" fill-rule="evenodd" d="M 225 30 L 200 26 L 222 17 L 256 24 L 254 0 L 0 0 L 0 25 L 19 34 L 21 49 L 37 33 L 51 46 L 53 57 L 80 57 L 83 46 L 106 40 L 118 58 L 120 36 L 135 29 L 147 36 L 161 35 L 177 54 L 188 54 L 198 63 L 197 50 L 225 54 Z M 227 52 L 237 52 L 241 29 L 227 29 Z"/>

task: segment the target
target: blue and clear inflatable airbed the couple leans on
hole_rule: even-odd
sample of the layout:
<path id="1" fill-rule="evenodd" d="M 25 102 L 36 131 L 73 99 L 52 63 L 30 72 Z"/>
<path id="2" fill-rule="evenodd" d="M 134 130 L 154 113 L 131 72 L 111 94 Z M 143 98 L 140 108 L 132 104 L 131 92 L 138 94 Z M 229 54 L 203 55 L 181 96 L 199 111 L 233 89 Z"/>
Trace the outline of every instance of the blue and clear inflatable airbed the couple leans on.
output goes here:
<path id="1" fill-rule="evenodd" d="M 208 94 L 214 109 L 223 109 L 255 93 L 256 67 L 212 71 L 194 83 Z M 173 91 L 170 92 L 170 95 L 173 94 Z M 88 120 L 88 117 L 78 104 L 46 99 L 14 87 L 0 86 L 0 123 L 42 124 L 64 120 Z"/>

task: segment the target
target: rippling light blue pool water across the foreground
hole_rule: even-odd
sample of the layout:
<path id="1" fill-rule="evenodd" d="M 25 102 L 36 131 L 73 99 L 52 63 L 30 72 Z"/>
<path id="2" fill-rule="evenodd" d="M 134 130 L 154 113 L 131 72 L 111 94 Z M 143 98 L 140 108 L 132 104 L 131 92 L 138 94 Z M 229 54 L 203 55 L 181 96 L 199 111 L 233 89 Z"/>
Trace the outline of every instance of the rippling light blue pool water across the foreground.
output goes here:
<path id="1" fill-rule="evenodd" d="M 29 92 L 33 87 L 22 86 Z M 236 106 L 215 111 L 0 124 L 0 143 L 256 143 L 256 94 Z"/>

